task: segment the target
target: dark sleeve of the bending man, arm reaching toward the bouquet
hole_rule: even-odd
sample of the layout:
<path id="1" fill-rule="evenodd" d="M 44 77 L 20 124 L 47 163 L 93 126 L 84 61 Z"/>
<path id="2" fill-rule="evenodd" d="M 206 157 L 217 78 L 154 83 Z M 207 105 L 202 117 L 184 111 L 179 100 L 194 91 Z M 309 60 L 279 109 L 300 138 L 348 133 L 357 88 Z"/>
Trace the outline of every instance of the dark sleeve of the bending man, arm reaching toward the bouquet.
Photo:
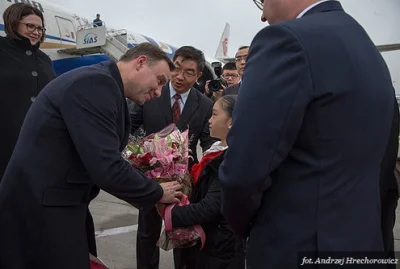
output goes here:
<path id="1" fill-rule="evenodd" d="M 115 82 L 93 76 L 75 82 L 60 107 L 72 142 L 94 184 L 139 207 L 152 207 L 161 186 L 126 162 L 119 151 L 116 122 L 125 99 Z"/>

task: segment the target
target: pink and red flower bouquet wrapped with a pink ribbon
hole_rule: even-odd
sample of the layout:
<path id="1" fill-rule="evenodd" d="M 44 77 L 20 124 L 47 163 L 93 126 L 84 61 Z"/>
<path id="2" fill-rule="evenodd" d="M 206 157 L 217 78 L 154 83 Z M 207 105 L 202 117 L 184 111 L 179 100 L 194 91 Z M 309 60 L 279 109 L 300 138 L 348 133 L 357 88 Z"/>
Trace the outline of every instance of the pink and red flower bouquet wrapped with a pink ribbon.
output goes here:
<path id="1" fill-rule="evenodd" d="M 180 132 L 175 124 L 170 124 L 155 134 L 131 136 L 122 154 L 133 167 L 159 183 L 181 183 L 184 197 L 178 206 L 182 206 L 189 203 L 187 197 L 192 190 L 192 177 L 188 171 L 189 151 L 189 130 Z M 169 217 L 173 206 L 167 206 Z M 172 228 L 169 224 L 165 220 L 165 229 L 157 243 L 164 250 L 190 247 L 198 239 L 205 240 L 201 227 Z"/>

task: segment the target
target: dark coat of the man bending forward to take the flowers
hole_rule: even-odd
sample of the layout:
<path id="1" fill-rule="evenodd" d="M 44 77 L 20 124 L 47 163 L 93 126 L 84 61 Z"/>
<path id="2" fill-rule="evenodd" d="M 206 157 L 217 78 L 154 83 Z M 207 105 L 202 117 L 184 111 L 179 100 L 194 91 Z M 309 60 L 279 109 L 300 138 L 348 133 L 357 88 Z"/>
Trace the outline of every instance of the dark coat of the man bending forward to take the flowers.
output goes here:
<path id="1" fill-rule="evenodd" d="M 0 185 L 0 268 L 89 268 L 85 220 L 96 184 L 138 206 L 158 183 L 122 159 L 130 120 L 115 63 L 68 72 L 33 102 Z"/>

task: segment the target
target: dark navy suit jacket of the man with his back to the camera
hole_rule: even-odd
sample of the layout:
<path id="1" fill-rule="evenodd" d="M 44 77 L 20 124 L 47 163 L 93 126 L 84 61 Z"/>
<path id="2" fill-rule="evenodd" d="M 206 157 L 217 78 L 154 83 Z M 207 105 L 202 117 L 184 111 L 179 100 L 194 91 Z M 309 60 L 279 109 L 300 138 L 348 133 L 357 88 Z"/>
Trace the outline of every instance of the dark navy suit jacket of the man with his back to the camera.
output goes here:
<path id="1" fill-rule="evenodd" d="M 219 177 L 225 217 L 250 236 L 249 267 L 298 268 L 299 251 L 383 250 L 394 98 L 384 59 L 338 1 L 255 36 Z"/>

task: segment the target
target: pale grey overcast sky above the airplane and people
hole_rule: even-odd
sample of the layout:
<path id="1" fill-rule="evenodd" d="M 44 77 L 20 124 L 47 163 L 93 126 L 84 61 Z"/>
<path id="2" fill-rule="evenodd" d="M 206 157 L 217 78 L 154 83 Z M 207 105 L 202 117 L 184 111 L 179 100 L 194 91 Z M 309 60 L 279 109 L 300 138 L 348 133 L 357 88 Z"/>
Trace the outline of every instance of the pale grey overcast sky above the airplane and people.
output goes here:
<path id="1" fill-rule="evenodd" d="M 213 57 L 225 22 L 231 25 L 229 56 L 250 44 L 267 24 L 252 0 L 49 0 L 77 15 L 141 33 L 174 46 L 192 45 Z M 296 1 L 296 0 L 293 0 Z M 400 0 L 341 0 L 376 44 L 400 42 Z"/>

